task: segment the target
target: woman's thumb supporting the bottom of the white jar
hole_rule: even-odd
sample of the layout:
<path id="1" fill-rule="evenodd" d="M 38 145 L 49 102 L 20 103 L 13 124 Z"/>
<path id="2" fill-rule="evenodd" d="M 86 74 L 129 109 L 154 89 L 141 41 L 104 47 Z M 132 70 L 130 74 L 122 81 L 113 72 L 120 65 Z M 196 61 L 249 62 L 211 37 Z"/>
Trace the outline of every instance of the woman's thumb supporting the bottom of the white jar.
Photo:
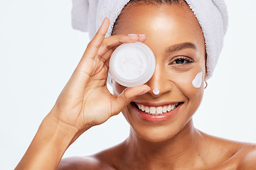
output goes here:
<path id="1" fill-rule="evenodd" d="M 125 106 L 131 103 L 134 98 L 142 94 L 146 94 L 148 91 L 150 91 L 150 87 L 145 84 L 142 86 L 124 89 L 122 94 L 119 94 L 119 96 L 112 101 L 112 115 L 117 115 Z"/>

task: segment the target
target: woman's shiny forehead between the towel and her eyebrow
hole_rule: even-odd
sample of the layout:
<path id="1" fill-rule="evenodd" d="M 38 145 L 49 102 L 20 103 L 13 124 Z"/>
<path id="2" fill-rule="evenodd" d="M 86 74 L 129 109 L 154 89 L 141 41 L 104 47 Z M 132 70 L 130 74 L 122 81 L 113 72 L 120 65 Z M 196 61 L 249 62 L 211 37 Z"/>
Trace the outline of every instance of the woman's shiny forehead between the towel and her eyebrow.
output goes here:
<path id="1" fill-rule="evenodd" d="M 204 46 L 201 26 L 185 2 L 128 4 L 117 18 L 113 35 L 128 33 L 146 34 L 147 41 L 193 42 Z"/>

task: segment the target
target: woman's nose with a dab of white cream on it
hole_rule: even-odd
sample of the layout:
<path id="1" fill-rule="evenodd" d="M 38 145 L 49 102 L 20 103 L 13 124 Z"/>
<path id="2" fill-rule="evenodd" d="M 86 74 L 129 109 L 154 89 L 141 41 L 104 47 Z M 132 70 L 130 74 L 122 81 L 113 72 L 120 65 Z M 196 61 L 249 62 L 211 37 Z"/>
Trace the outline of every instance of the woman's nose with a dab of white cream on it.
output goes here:
<path id="1" fill-rule="evenodd" d="M 165 69 L 165 67 L 156 62 L 154 74 L 146 83 L 146 85 L 150 86 L 151 88 L 149 93 L 152 96 L 161 96 L 162 94 L 166 94 L 171 91 L 172 85 L 168 79 Z"/>

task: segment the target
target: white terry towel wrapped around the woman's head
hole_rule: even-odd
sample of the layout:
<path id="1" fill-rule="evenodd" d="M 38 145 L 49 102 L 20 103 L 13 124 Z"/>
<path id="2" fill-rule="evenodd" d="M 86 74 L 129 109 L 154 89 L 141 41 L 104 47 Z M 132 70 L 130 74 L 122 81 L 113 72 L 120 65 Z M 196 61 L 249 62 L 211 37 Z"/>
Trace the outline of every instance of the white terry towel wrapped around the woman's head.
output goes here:
<path id="1" fill-rule="evenodd" d="M 228 11 L 224 0 L 184 0 L 200 24 L 206 43 L 208 77 L 218 62 L 228 28 Z M 72 25 L 88 31 L 92 39 L 105 17 L 110 19 L 106 37 L 112 34 L 114 22 L 129 0 L 73 0 Z"/>

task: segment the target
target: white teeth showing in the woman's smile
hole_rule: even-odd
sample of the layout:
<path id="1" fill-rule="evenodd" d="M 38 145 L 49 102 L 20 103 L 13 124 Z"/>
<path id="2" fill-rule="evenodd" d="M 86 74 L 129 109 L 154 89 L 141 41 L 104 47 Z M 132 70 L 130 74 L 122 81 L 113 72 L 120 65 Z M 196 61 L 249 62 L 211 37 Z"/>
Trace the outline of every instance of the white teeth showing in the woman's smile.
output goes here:
<path id="1" fill-rule="evenodd" d="M 154 106 L 144 106 L 142 104 L 138 104 L 136 103 L 137 107 L 139 108 L 139 110 L 145 112 L 145 113 L 149 113 L 150 115 L 161 115 L 164 114 L 166 112 L 169 111 L 173 111 L 177 106 L 178 103 L 175 104 L 170 104 L 170 105 L 166 105 L 166 106 L 158 106 L 158 107 L 154 107 Z"/>

